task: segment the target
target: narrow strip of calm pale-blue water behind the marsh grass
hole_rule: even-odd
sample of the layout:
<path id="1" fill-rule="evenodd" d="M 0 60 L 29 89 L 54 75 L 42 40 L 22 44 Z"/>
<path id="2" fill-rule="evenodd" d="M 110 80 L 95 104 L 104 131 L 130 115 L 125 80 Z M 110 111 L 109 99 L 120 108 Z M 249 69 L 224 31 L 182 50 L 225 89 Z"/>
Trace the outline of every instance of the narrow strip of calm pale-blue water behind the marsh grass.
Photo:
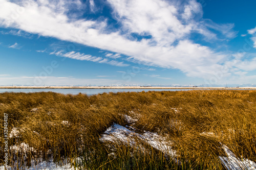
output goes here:
<path id="1" fill-rule="evenodd" d="M 52 91 L 63 94 L 78 94 L 86 93 L 87 95 L 93 95 L 103 92 L 141 92 L 141 91 L 187 91 L 190 89 L 0 89 L 1 92 L 41 92 L 41 91 Z"/>

